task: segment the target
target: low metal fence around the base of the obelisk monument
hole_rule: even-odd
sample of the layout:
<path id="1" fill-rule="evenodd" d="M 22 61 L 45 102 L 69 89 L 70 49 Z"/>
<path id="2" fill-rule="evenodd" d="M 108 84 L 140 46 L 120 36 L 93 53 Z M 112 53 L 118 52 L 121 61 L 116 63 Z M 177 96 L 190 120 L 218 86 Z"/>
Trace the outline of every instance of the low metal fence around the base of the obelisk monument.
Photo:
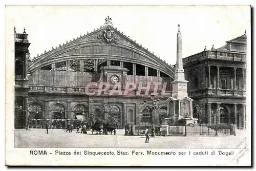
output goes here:
<path id="1" fill-rule="evenodd" d="M 145 130 L 148 127 L 148 135 L 152 135 L 152 125 L 126 125 L 125 130 L 132 131 L 133 135 L 145 135 Z M 195 124 L 174 125 L 168 126 L 167 136 L 228 136 L 234 134 L 232 124 Z M 166 136 L 161 125 L 155 126 L 156 136 Z"/>

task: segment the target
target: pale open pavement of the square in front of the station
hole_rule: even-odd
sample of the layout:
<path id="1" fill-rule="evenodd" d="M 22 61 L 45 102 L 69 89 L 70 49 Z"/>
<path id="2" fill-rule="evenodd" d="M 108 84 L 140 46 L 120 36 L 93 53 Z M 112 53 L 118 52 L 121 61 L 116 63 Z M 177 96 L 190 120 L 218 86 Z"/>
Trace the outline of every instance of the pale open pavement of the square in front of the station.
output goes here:
<path id="1" fill-rule="evenodd" d="M 118 130 L 120 131 L 120 130 Z M 117 132 L 118 133 L 118 132 Z M 239 130 L 237 136 L 219 137 L 150 137 L 145 136 L 92 135 L 66 133 L 64 130 L 44 129 L 15 130 L 15 147 L 102 147 L 102 148 L 244 148 L 245 130 Z"/>

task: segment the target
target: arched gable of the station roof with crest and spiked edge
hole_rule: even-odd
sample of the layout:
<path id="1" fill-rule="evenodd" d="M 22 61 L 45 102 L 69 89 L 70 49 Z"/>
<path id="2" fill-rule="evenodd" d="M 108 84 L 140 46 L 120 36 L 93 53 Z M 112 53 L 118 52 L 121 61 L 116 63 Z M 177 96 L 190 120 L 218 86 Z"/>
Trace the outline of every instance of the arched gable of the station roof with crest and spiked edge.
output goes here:
<path id="1" fill-rule="evenodd" d="M 29 70 L 34 71 L 42 66 L 67 59 L 109 58 L 110 60 L 136 61 L 136 63 L 155 68 L 167 75 L 174 75 L 174 68 L 161 60 L 154 53 L 139 45 L 136 40 L 114 28 L 108 21 L 101 27 L 80 35 L 66 44 L 59 44 L 49 52 L 38 55 L 31 60 Z M 95 57 L 96 56 L 96 57 Z M 111 59 L 112 58 L 112 59 Z"/>

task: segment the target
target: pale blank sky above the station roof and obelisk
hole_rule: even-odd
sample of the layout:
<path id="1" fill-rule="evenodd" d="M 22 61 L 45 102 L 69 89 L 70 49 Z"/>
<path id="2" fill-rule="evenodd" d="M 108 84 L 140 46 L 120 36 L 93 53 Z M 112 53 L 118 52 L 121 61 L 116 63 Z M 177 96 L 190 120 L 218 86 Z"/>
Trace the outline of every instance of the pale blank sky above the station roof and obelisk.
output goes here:
<path id="1" fill-rule="evenodd" d="M 26 28 L 33 58 L 100 28 L 107 16 L 170 65 L 176 63 L 178 24 L 183 58 L 250 34 L 250 6 L 6 6 L 6 29 Z"/>

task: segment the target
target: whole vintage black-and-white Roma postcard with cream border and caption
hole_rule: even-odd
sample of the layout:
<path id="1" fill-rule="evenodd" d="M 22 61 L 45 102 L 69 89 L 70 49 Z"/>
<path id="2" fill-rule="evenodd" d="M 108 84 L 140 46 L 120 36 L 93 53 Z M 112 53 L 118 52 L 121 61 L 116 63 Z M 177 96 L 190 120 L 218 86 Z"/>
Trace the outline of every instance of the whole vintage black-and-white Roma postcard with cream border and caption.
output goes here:
<path id="1" fill-rule="evenodd" d="M 5 14 L 6 165 L 251 165 L 249 5 Z"/>

